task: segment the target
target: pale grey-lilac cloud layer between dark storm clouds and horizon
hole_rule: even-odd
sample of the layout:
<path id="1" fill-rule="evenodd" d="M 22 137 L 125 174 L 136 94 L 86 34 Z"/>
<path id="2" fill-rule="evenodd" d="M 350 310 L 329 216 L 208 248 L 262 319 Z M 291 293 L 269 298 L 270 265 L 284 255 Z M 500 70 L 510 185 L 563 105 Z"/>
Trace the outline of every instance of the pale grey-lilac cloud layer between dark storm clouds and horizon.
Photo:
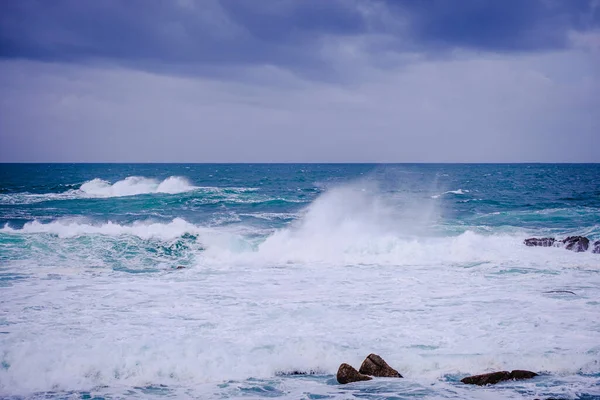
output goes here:
<path id="1" fill-rule="evenodd" d="M 344 86 L 273 67 L 245 71 L 253 78 L 243 83 L 5 61 L 0 158 L 600 161 L 600 69 L 587 49 L 463 53 L 386 70 L 352 57 L 369 78 Z"/>

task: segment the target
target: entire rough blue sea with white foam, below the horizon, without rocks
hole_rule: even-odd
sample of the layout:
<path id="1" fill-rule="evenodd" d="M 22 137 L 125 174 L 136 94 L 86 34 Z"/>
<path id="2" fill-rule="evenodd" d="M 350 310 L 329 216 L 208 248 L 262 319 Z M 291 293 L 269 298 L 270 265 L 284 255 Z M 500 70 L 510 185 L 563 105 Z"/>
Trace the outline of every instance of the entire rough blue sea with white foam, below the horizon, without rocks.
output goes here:
<path id="1" fill-rule="evenodd" d="M 600 399 L 569 235 L 598 164 L 0 164 L 0 397 Z"/>

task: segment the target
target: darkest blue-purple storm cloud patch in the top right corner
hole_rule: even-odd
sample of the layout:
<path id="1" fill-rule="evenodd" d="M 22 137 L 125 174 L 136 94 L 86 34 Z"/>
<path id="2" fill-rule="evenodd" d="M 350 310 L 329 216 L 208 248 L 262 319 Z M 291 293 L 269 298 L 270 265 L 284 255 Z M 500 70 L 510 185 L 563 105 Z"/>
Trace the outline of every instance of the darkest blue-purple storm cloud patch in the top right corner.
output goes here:
<path id="1" fill-rule="evenodd" d="M 400 8 L 410 13 L 412 33 L 423 45 L 507 52 L 564 48 L 569 31 L 600 21 L 594 0 L 427 0 Z"/>

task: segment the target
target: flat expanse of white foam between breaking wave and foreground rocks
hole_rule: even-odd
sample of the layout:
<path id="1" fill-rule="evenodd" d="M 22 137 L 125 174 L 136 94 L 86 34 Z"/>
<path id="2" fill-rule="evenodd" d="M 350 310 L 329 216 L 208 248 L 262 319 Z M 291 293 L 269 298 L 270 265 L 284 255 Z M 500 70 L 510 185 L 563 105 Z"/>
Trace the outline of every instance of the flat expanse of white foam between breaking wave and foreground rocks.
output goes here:
<path id="1" fill-rule="evenodd" d="M 500 273 L 510 267 L 200 264 L 31 280 L 3 288 L 0 392 L 165 384 L 204 398 L 277 371 L 334 374 L 370 352 L 427 386 L 498 369 L 597 373 L 597 274 Z M 557 284 L 581 287 L 542 294 Z"/>

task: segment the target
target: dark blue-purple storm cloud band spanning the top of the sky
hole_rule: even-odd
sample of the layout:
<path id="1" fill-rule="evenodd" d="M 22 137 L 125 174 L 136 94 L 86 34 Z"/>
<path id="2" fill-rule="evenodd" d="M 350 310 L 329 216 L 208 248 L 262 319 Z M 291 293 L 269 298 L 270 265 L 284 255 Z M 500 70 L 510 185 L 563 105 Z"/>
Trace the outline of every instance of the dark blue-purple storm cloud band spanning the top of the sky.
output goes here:
<path id="1" fill-rule="evenodd" d="M 0 56 L 177 72 L 272 64 L 326 70 L 323 38 L 385 36 L 378 51 L 541 51 L 599 26 L 595 0 L 0 2 Z"/>

